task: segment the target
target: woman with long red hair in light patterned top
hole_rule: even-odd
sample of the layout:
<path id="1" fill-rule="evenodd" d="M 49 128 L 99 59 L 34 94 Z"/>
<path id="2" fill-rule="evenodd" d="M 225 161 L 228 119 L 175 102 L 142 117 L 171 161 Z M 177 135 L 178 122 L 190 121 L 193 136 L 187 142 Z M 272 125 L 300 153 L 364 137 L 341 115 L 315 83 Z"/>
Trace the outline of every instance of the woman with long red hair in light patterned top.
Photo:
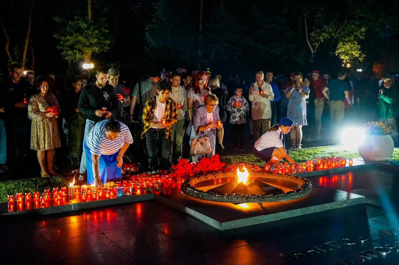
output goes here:
<path id="1" fill-rule="evenodd" d="M 187 108 L 190 120 L 196 107 L 203 105 L 205 97 L 211 94 L 211 89 L 207 86 L 208 74 L 205 71 L 198 71 L 193 76 L 193 79 L 193 85 L 187 91 Z"/>

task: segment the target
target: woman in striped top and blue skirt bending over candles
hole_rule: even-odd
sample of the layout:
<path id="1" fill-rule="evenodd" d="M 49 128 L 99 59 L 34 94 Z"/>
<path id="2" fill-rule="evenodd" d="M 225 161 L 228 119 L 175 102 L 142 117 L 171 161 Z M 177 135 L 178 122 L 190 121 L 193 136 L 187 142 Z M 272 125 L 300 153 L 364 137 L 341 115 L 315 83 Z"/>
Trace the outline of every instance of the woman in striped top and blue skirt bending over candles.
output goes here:
<path id="1" fill-rule="evenodd" d="M 129 128 L 112 116 L 96 123 L 83 142 L 87 184 L 100 187 L 104 182 L 122 178 L 122 156 L 132 142 Z"/>

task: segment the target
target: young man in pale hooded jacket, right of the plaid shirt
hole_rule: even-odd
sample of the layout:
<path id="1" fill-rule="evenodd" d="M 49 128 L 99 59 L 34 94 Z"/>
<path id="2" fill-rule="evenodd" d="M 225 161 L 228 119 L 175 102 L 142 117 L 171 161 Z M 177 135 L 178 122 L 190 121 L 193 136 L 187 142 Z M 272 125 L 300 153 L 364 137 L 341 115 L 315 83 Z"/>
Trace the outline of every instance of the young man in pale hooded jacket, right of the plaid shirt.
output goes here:
<path id="1" fill-rule="evenodd" d="M 170 156 L 169 161 L 173 162 L 173 143 L 176 143 L 175 147 L 175 161 L 179 161 L 182 158 L 182 146 L 183 146 L 183 135 L 184 135 L 184 115 L 187 110 L 187 91 L 180 86 L 180 74 L 173 72 L 170 76 L 170 83 L 172 84 L 172 90 L 169 93 L 169 97 L 176 102 L 178 111 L 178 120 L 172 125 L 172 132 L 170 134 Z M 176 137 L 175 137 L 176 134 Z"/>

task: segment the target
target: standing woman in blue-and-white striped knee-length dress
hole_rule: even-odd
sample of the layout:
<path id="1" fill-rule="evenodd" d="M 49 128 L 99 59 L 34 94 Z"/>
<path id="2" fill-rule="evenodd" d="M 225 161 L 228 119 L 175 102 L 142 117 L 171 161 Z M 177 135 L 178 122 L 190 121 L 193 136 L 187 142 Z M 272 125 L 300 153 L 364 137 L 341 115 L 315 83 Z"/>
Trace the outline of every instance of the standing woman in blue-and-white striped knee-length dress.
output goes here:
<path id="1" fill-rule="evenodd" d="M 302 148 L 302 126 L 308 125 L 306 120 L 306 99 L 309 98 L 310 89 L 302 84 L 302 74 L 294 72 L 294 82 L 285 92 L 288 98 L 287 117 L 294 121 L 290 130 L 292 146 L 290 149 Z M 295 143 L 296 141 L 296 143 Z"/>

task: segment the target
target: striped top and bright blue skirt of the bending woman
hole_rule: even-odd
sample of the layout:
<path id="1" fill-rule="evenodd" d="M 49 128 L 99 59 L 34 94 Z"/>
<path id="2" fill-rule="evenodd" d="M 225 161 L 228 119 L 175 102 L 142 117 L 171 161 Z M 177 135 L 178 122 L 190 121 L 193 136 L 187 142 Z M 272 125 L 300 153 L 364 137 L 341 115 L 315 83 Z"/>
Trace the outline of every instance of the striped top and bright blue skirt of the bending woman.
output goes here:
<path id="1" fill-rule="evenodd" d="M 87 185 L 94 183 L 93 161 L 91 155 L 100 156 L 100 178 L 101 181 L 118 181 L 122 177 L 122 168 L 117 167 L 117 156 L 124 143 L 133 142 L 129 128 L 119 121 L 120 133 L 114 140 L 109 140 L 105 134 L 105 125 L 108 119 L 99 121 L 91 129 L 89 135 L 83 143 L 86 151 L 87 162 Z"/>

